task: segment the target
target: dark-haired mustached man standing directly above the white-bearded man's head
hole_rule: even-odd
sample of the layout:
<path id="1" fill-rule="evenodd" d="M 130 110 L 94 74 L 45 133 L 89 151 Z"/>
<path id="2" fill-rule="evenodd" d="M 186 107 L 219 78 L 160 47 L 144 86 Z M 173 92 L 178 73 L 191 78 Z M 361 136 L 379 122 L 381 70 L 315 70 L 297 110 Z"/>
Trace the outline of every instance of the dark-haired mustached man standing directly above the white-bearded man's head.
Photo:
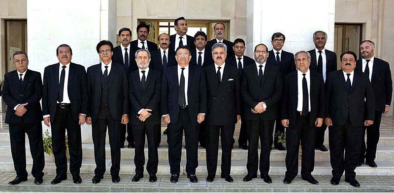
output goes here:
<path id="1" fill-rule="evenodd" d="M 149 26 L 145 23 L 141 23 L 137 26 L 137 36 L 138 38 L 131 42 L 131 47 L 133 50 L 137 51 L 139 49 L 145 49 L 149 52 L 157 50 L 157 44 L 146 40 L 149 35 Z"/>

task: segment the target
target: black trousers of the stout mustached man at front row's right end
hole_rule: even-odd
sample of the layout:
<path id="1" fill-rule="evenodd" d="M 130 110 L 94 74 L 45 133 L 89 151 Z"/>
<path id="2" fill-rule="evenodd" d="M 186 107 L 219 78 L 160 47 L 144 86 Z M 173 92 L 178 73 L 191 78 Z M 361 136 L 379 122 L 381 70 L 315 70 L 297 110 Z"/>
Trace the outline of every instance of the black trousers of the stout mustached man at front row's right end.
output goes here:
<path id="1" fill-rule="evenodd" d="M 354 170 L 360 161 L 362 126 L 353 126 L 348 120 L 345 125 L 328 127 L 328 137 L 332 176 L 340 178 L 345 171 L 346 178 L 355 178 Z"/>

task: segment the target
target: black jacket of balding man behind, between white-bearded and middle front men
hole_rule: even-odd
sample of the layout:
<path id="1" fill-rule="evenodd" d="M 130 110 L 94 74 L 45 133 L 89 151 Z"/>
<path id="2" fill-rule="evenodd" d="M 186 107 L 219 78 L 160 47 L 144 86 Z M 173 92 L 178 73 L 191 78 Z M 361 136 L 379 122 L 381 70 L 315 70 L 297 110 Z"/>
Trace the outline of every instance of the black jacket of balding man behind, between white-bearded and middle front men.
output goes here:
<path id="1" fill-rule="evenodd" d="M 177 64 L 175 60 L 175 51 L 167 49 L 168 53 L 165 53 L 168 55 L 167 59 L 167 68 L 169 66 L 174 66 Z M 162 58 L 162 53 L 159 50 L 155 50 L 151 52 L 151 62 L 149 64 L 149 68 L 152 68 L 153 70 L 156 70 L 163 74 L 164 69 L 163 69 L 163 58 Z"/>

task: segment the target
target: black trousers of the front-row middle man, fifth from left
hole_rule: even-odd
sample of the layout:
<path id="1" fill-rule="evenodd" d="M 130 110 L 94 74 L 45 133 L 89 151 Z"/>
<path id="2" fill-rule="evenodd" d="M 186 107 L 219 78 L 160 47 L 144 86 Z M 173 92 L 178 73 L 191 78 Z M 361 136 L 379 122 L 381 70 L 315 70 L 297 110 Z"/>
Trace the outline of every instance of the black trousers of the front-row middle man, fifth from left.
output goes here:
<path id="1" fill-rule="evenodd" d="M 181 171 L 183 131 L 185 132 L 186 143 L 186 173 L 196 174 L 198 166 L 198 125 L 190 121 L 187 109 L 180 109 L 177 123 L 170 122 L 168 124 L 168 162 L 171 175 L 179 175 Z"/>

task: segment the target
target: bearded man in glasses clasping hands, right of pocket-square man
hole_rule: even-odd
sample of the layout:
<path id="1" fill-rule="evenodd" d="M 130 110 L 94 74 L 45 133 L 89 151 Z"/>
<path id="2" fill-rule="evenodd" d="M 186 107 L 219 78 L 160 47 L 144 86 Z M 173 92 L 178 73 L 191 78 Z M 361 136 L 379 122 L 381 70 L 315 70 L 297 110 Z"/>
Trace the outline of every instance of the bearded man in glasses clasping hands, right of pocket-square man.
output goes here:
<path id="1" fill-rule="evenodd" d="M 279 68 L 267 61 L 268 49 L 264 44 L 255 47 L 255 64 L 243 69 L 241 95 L 244 102 L 243 113 L 246 120 L 249 148 L 246 168 L 248 174 L 243 181 L 257 178 L 259 168 L 259 137 L 261 141 L 260 173 L 266 183 L 272 179 L 268 175 L 271 153 L 272 132 L 278 116 L 278 102 L 282 95 L 282 76 Z"/>

